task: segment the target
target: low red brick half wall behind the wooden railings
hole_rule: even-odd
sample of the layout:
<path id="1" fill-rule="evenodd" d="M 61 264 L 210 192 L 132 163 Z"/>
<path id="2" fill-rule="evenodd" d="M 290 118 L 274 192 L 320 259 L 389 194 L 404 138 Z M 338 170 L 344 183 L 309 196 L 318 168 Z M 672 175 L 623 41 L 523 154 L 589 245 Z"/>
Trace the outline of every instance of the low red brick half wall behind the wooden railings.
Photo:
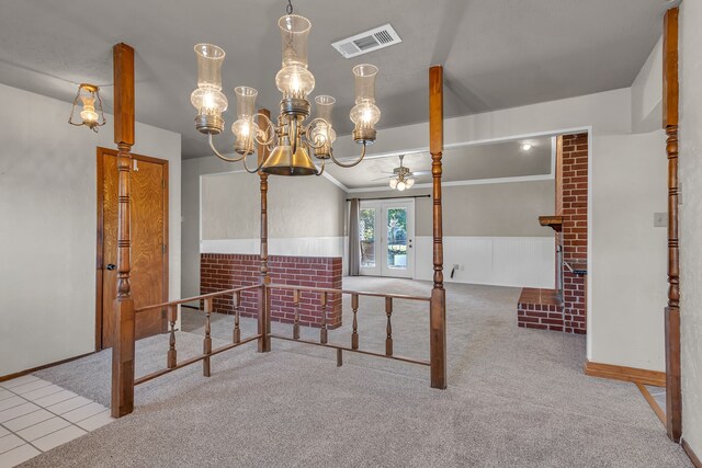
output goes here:
<path id="1" fill-rule="evenodd" d="M 201 294 L 215 293 L 259 283 L 261 260 L 259 255 L 238 253 L 203 253 L 200 261 Z M 326 256 L 282 256 L 269 258 L 269 272 L 274 284 L 328 287 L 341 289 L 341 258 Z M 302 292 L 299 323 L 304 327 L 321 324 L 319 294 Z M 214 299 L 214 310 L 234 313 L 234 301 L 229 297 Z M 258 317 L 258 292 L 241 293 L 239 313 L 242 317 Z M 293 292 L 273 289 L 271 292 L 271 320 L 293 323 L 295 307 Z M 329 295 L 327 305 L 327 327 L 341 326 L 341 296 Z"/>

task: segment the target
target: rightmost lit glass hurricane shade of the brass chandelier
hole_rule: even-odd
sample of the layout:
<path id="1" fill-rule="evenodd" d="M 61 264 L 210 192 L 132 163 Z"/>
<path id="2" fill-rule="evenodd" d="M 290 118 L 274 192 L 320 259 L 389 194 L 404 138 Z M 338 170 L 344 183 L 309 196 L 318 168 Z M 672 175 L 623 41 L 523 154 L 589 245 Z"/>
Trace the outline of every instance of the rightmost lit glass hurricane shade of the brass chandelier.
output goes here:
<path id="1" fill-rule="evenodd" d="M 355 124 L 355 142 L 375 141 L 375 124 L 381 119 L 381 110 L 375 105 L 375 76 L 377 67 L 369 64 L 353 67 L 355 78 L 355 105 L 349 117 Z"/>

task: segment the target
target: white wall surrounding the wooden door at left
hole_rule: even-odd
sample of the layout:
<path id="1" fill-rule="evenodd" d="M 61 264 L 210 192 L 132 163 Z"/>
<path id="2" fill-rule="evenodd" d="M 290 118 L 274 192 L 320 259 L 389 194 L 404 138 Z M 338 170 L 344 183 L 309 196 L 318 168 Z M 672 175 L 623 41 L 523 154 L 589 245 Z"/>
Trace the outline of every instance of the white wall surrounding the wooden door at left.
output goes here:
<path id="1" fill-rule="evenodd" d="M 94 351 L 97 152 L 112 116 L 71 127 L 70 103 L 0 84 L 0 376 Z M 180 135 L 136 126 L 169 161 L 169 295 L 180 296 Z"/>

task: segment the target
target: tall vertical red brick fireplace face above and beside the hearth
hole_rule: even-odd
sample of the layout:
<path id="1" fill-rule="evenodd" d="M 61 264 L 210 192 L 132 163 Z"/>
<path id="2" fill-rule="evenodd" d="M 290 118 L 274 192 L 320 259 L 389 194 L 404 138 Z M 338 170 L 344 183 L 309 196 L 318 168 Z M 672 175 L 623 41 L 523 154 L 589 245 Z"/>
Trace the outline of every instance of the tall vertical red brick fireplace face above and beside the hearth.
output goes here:
<path id="1" fill-rule="evenodd" d="M 563 259 L 588 258 L 588 134 L 563 136 Z M 586 277 L 564 269 L 564 331 L 586 332 Z"/>

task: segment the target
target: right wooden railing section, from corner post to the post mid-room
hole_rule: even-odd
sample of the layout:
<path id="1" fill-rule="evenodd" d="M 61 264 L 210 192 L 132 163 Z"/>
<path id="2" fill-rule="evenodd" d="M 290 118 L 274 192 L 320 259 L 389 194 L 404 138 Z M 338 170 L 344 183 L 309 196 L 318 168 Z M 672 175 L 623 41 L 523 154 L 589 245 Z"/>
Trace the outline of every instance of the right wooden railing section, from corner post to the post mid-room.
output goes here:
<path id="1" fill-rule="evenodd" d="M 377 357 L 386 357 L 396 361 L 403 361 L 406 363 L 420 364 L 424 366 L 429 366 L 430 362 L 414 357 L 398 356 L 394 353 L 393 350 L 393 304 L 394 300 L 415 300 L 415 301 L 423 301 L 430 303 L 430 297 L 422 296 L 407 296 L 401 294 L 383 294 L 383 293 L 369 293 L 369 292 L 359 292 L 359 290 L 347 290 L 347 289 L 330 289 L 322 287 L 306 287 L 306 286 L 294 286 L 294 285 L 282 285 L 282 284 L 271 284 L 268 285 L 269 289 L 283 289 L 283 290 L 292 290 L 293 292 L 293 303 L 295 304 L 295 318 L 293 321 L 293 333 L 291 336 L 282 335 L 282 334 L 273 334 L 271 333 L 271 338 L 278 340 L 286 340 L 286 341 L 296 341 L 299 343 L 314 344 L 317 346 L 331 347 L 337 350 L 337 366 L 341 366 L 343 364 L 343 351 L 349 351 L 353 353 L 365 354 L 370 356 Z M 312 292 L 317 293 L 319 295 L 319 304 L 321 306 L 321 324 L 319 328 L 319 341 L 312 340 L 303 340 L 299 338 L 299 299 L 302 297 L 303 292 Z M 351 330 L 351 344 L 350 346 L 346 346 L 342 344 L 333 344 L 329 343 L 328 340 L 328 307 L 329 296 L 330 295 L 350 295 L 351 296 L 351 310 L 353 313 L 352 320 L 352 330 Z M 385 326 L 385 354 L 376 353 L 372 351 L 364 351 L 359 349 L 359 297 L 367 296 L 367 297 L 382 297 L 385 299 L 385 316 L 386 316 L 386 326 Z M 429 308 L 427 308 L 427 312 L 429 312 Z"/>

